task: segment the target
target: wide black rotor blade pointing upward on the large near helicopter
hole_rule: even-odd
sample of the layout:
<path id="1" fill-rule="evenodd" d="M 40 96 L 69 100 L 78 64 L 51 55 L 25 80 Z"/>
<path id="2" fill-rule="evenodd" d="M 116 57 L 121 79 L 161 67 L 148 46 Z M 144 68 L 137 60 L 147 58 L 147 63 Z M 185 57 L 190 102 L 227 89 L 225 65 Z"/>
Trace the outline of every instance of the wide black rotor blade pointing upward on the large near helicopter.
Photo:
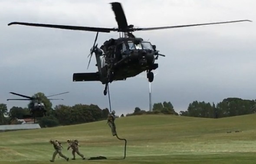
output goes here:
<path id="1" fill-rule="evenodd" d="M 111 3 L 112 10 L 115 13 L 115 20 L 117 21 L 118 28 L 121 31 L 125 31 L 128 29 L 128 23 L 125 17 L 125 12 L 121 6 L 121 3 L 113 2 Z"/>

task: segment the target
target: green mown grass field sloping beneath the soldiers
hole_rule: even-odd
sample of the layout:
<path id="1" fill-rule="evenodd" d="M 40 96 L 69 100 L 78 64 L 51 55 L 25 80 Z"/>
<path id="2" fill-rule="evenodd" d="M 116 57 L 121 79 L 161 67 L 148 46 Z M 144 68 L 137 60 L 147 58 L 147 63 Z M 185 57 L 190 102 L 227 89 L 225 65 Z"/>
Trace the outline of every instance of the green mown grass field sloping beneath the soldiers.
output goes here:
<path id="1" fill-rule="evenodd" d="M 112 136 L 106 121 L 87 124 L 0 133 L 0 164 L 46 164 L 53 154 L 49 140 L 63 144 L 78 139 L 85 157 L 105 156 L 108 160 L 65 161 L 72 164 L 254 164 L 256 161 L 256 115 L 209 119 L 170 115 L 141 115 L 118 118 L 118 136 Z M 241 132 L 234 132 L 239 130 Z M 227 131 L 232 131 L 227 133 Z"/>

